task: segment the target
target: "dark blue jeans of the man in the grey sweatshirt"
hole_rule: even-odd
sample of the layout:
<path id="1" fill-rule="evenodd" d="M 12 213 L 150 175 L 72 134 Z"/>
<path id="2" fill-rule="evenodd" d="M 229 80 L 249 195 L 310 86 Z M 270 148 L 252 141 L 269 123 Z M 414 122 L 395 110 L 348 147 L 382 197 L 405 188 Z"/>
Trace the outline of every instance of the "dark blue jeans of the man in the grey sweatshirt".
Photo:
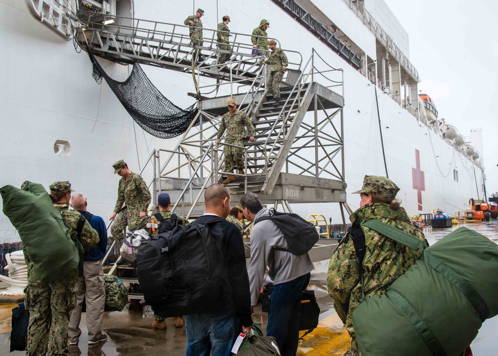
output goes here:
<path id="1" fill-rule="evenodd" d="M 282 356 L 295 356 L 297 353 L 301 298 L 309 281 L 310 273 L 307 273 L 290 282 L 275 285 L 271 293 L 266 336 L 277 340 Z"/>

